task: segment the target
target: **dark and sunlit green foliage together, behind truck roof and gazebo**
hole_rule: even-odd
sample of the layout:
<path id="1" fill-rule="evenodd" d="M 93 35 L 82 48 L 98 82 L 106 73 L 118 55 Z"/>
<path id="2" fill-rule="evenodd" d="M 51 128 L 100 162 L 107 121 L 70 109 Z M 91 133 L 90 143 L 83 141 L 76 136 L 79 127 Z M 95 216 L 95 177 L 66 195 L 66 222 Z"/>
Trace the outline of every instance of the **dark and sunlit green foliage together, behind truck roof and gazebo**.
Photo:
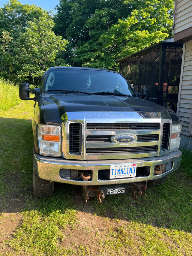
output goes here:
<path id="1" fill-rule="evenodd" d="M 117 69 L 116 59 L 172 36 L 173 6 L 173 0 L 60 0 L 54 31 L 70 42 L 69 64 Z"/>

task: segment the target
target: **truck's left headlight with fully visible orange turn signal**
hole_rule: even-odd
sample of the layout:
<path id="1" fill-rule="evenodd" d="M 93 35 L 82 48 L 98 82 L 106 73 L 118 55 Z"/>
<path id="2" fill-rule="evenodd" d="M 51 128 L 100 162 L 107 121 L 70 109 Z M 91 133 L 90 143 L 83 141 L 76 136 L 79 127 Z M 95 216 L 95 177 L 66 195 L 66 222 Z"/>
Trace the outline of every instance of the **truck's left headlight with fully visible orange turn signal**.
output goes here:
<path id="1" fill-rule="evenodd" d="M 61 156 L 61 127 L 38 124 L 39 153 Z"/>

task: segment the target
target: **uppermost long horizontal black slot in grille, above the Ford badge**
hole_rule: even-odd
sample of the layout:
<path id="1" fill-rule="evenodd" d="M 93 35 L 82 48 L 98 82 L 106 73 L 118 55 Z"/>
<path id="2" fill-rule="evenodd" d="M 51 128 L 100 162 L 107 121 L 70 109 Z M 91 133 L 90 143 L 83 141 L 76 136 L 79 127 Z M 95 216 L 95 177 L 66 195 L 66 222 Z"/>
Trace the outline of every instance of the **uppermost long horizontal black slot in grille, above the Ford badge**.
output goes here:
<path id="1" fill-rule="evenodd" d="M 87 123 L 87 130 L 159 130 L 159 123 Z"/>

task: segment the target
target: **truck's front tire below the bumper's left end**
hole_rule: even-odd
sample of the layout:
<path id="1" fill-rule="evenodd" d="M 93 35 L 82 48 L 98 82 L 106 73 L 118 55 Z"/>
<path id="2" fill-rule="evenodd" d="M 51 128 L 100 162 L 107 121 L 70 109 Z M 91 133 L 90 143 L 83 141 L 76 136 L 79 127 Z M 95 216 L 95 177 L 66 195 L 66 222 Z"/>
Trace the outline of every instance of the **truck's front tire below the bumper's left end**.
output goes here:
<path id="1" fill-rule="evenodd" d="M 33 152 L 33 192 L 36 197 L 49 197 L 54 191 L 54 182 L 41 179 L 36 173 L 35 157 Z"/>

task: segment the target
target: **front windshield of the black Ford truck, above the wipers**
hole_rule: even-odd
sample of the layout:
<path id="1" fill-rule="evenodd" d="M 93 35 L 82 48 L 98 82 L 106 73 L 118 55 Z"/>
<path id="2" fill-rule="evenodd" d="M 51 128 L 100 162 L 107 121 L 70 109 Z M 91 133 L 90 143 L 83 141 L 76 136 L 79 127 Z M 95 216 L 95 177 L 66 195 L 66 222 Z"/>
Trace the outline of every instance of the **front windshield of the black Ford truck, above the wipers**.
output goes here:
<path id="1" fill-rule="evenodd" d="M 45 91 L 104 94 L 111 92 L 133 96 L 134 92 L 118 73 L 88 69 L 53 69 L 46 80 Z"/>

